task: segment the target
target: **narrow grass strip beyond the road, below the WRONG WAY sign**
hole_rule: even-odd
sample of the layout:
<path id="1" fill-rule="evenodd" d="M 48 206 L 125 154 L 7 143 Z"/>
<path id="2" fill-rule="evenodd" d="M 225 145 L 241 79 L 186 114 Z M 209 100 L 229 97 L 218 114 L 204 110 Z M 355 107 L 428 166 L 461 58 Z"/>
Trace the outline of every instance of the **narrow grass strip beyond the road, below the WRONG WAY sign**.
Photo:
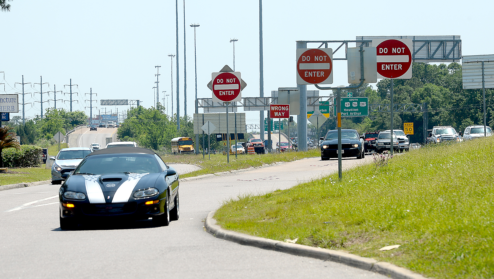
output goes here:
<path id="1" fill-rule="evenodd" d="M 188 174 L 181 174 L 180 177 L 192 177 L 202 174 L 214 174 L 219 172 L 226 172 L 232 170 L 247 169 L 249 167 L 259 167 L 263 164 L 272 164 L 275 162 L 290 162 L 300 160 L 307 157 L 321 156 L 321 151 L 318 149 L 312 149 L 305 152 L 284 152 L 281 154 L 255 154 L 255 155 L 238 155 L 235 159 L 235 155 L 230 155 L 230 163 L 226 162 L 226 155 L 211 154 L 211 160 L 208 160 L 207 154 L 205 159 L 203 155 L 170 155 L 163 156 L 165 163 L 183 163 L 194 164 L 200 166 L 202 169 L 191 172 Z"/>

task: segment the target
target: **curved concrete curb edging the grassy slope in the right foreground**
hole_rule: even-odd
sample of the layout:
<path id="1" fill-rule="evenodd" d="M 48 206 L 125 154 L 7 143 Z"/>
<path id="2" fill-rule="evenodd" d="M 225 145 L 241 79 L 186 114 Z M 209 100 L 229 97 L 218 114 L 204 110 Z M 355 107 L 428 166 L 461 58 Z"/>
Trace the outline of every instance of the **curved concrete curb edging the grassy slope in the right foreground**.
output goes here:
<path id="1" fill-rule="evenodd" d="M 413 273 L 408 269 L 396 266 L 394 264 L 378 262 L 372 258 L 361 257 L 344 251 L 316 248 L 302 244 L 285 243 L 277 240 L 249 236 L 246 234 L 224 230 L 220 226 L 216 225 L 216 220 L 213 219 L 215 212 L 216 210 L 207 214 L 204 227 L 206 228 L 206 232 L 217 238 L 233 241 L 242 245 L 255 246 L 297 256 L 338 262 L 356 268 L 377 272 L 394 279 L 426 279 L 419 274 Z"/>

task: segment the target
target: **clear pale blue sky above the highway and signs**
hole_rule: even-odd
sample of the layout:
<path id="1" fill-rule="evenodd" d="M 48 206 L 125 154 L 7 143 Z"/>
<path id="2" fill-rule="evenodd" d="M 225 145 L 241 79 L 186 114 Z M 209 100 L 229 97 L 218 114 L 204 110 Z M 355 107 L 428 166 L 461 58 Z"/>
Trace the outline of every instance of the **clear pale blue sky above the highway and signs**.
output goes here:
<path id="1" fill-rule="evenodd" d="M 89 89 L 100 99 L 139 99 L 153 103 L 155 65 L 160 68 L 160 91 L 170 94 L 170 59 L 175 54 L 175 1 L 170 0 L 13 0 L 10 12 L 0 13 L 5 93 L 15 82 L 49 83 L 43 91 L 68 92 L 72 78 L 79 103 L 74 109 L 89 114 Z M 259 96 L 259 3 L 258 1 L 186 0 L 187 113 L 194 112 L 194 29 L 197 28 L 198 96 L 210 98 L 206 87 L 211 72 L 228 64 L 242 72 L 247 82 L 244 97 Z M 263 2 L 264 95 L 278 87 L 296 86 L 296 40 L 354 40 L 356 35 L 460 35 L 462 54 L 494 53 L 492 1 L 269 1 Z M 180 114 L 183 115 L 184 45 L 183 1 L 179 9 Z M 173 61 L 175 76 L 175 60 Z M 333 85 L 346 85 L 346 62 L 335 63 Z M 2 76 L 0 75 L 0 78 Z M 1 85 L 0 85 L 1 86 Z M 39 92 L 39 85 L 28 92 Z M 173 78 L 176 105 L 176 79 Z M 2 90 L 3 87 L 0 87 Z M 308 90 L 314 90 L 308 86 Z M 4 92 L 1 92 L 2 94 Z M 160 99 L 164 95 L 160 92 Z M 171 96 L 170 96 L 171 97 Z M 27 103 L 40 94 L 27 95 Z M 57 99 L 68 95 L 57 93 Z M 53 94 L 43 100 L 53 99 Z M 166 101 L 165 101 L 166 105 Z M 171 106 L 171 99 L 168 100 Z M 53 107 L 53 102 L 43 107 Z M 57 107 L 69 107 L 58 103 Z M 120 106 L 119 111 L 125 106 Z M 109 111 L 116 107 L 107 107 Z M 95 110 L 93 110 L 94 112 Z M 173 110 L 174 112 L 176 109 Z M 201 112 L 201 110 L 200 110 Z M 27 105 L 26 116 L 40 114 L 40 103 Z M 14 115 L 14 114 L 12 114 Z M 19 114 L 21 115 L 21 114 Z M 247 123 L 259 123 L 258 112 L 247 113 Z"/>

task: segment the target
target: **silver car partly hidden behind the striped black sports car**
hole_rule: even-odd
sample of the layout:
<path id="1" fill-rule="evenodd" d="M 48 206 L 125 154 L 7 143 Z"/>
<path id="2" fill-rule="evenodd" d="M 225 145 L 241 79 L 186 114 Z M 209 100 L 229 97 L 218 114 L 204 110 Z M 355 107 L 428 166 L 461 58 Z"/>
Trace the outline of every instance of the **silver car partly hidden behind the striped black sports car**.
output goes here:
<path id="1" fill-rule="evenodd" d="M 51 184 L 62 184 L 62 181 L 65 180 L 65 178 L 62 178 L 62 174 L 74 171 L 82 159 L 88 154 L 91 154 L 91 152 L 92 150 L 89 147 L 60 149 L 57 156 L 49 158 L 51 161 L 54 161 L 53 166 L 51 166 Z"/>

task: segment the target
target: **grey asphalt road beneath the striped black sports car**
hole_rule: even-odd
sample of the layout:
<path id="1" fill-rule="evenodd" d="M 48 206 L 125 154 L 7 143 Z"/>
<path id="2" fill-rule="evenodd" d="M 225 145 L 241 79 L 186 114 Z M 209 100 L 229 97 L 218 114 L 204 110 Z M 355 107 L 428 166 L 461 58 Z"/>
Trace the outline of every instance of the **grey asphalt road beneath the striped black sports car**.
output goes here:
<path id="1" fill-rule="evenodd" d="M 367 157 L 365 161 L 370 161 Z M 344 160 L 349 167 L 363 160 Z M 303 159 L 180 182 L 180 219 L 61 231 L 57 185 L 0 192 L 0 278 L 379 278 L 342 264 L 214 238 L 207 213 L 243 194 L 286 189 L 328 174 L 337 161 Z"/>

